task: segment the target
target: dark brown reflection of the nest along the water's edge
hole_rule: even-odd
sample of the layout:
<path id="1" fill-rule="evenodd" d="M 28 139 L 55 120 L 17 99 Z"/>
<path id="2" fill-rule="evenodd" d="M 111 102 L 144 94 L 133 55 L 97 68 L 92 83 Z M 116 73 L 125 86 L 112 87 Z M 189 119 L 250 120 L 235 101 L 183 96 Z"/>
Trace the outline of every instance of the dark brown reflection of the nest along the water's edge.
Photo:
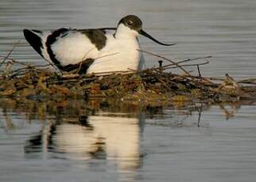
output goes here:
<path id="1" fill-rule="evenodd" d="M 153 103 L 147 106 L 136 103 L 117 103 L 115 100 L 12 100 L 1 99 L 0 108 L 4 121 L 2 125 L 6 131 L 12 130 L 15 124 L 12 122 L 10 112 L 22 113 L 25 119 L 31 122 L 33 119 L 39 119 L 45 122 L 44 127 L 59 127 L 64 123 L 80 124 L 87 131 L 94 131 L 95 118 L 101 119 L 138 119 L 139 116 L 144 116 L 147 119 L 163 119 L 172 117 L 172 122 L 169 123 L 175 126 L 182 126 L 185 121 L 195 113 L 198 113 L 197 122 L 200 123 L 201 112 L 208 111 L 214 106 L 218 107 L 223 112 L 226 119 L 235 117 L 242 105 L 254 104 L 254 100 L 242 100 L 235 102 L 220 102 L 212 105 L 211 103 L 186 103 L 173 102 L 165 106 Z M 91 123 L 91 120 L 94 122 Z M 104 119 L 103 119 L 104 120 Z M 118 119 L 117 119 L 118 120 Z M 140 119 L 139 119 L 140 120 Z M 129 123 L 129 121 L 126 121 Z M 138 123 L 140 123 L 138 121 Z M 179 123 L 179 124 L 177 124 Z M 197 124 L 196 124 L 197 125 Z M 56 130 L 56 129 L 48 129 Z M 141 128 L 142 130 L 142 128 Z"/>

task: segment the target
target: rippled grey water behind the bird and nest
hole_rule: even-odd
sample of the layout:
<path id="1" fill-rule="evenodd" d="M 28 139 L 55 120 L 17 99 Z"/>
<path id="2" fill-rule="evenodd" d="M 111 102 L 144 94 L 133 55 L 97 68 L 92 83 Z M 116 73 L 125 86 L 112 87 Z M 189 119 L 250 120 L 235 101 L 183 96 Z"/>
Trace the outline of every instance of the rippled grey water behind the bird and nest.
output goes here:
<path id="1" fill-rule="evenodd" d="M 235 78 L 248 78 L 256 76 L 255 7 L 254 0 L 1 0 L 0 55 L 6 55 L 21 41 L 13 57 L 42 63 L 43 59 L 25 42 L 23 28 L 109 27 L 134 13 L 152 36 L 177 43 L 162 47 L 140 37 L 143 49 L 173 60 L 211 55 L 211 63 L 202 68 L 204 76 L 229 73 Z M 156 65 L 155 58 L 146 60 L 147 66 Z"/>

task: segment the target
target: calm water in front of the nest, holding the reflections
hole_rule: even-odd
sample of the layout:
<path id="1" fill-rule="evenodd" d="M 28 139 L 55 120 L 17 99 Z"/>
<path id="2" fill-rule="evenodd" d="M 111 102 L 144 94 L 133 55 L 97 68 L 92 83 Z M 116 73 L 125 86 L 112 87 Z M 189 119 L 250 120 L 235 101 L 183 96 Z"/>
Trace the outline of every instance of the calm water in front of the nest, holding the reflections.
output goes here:
<path id="1" fill-rule="evenodd" d="M 254 102 L 1 100 L 1 181 L 254 181 Z"/>

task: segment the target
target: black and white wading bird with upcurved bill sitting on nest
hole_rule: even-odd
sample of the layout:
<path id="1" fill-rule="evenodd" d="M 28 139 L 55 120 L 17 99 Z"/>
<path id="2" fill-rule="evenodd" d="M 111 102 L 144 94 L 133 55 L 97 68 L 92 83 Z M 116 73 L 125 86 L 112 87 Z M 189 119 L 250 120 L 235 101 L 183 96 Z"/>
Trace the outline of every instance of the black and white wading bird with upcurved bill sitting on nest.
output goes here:
<path id="1" fill-rule="evenodd" d="M 23 33 L 25 40 L 48 63 L 60 71 L 78 74 L 142 70 L 145 60 L 138 51 L 138 35 L 164 46 L 174 45 L 163 44 L 150 36 L 136 15 L 122 17 L 117 28 L 24 29 Z"/>

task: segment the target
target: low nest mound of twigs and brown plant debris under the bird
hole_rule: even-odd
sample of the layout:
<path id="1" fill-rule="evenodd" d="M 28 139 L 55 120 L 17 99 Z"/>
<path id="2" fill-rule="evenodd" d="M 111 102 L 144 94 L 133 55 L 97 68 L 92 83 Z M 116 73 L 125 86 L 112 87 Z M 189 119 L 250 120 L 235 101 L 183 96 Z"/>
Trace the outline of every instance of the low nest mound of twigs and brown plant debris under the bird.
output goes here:
<path id="1" fill-rule="evenodd" d="M 142 51 L 142 50 L 140 50 Z M 29 99 L 60 99 L 67 97 L 106 97 L 120 100 L 140 101 L 177 101 L 189 100 L 236 100 L 239 97 L 255 96 L 254 86 L 243 86 L 242 83 L 255 85 L 255 79 L 235 82 L 230 76 L 223 83 L 211 82 L 214 78 L 203 78 L 200 65 L 204 63 L 188 62 L 204 58 L 186 59 L 173 62 L 163 56 L 142 51 L 169 62 L 165 66 L 159 61 L 159 67 L 148 70 L 127 70 L 102 72 L 97 74 L 63 74 L 49 71 L 48 66 L 32 66 L 6 57 L 6 65 L 0 78 L 0 96 L 26 97 Z M 187 64 L 186 64 L 187 63 Z M 17 69 L 12 69 L 17 67 Z M 196 66 L 199 76 L 192 76 L 187 66 Z M 180 69 L 184 74 L 165 72 L 168 69 Z"/>

